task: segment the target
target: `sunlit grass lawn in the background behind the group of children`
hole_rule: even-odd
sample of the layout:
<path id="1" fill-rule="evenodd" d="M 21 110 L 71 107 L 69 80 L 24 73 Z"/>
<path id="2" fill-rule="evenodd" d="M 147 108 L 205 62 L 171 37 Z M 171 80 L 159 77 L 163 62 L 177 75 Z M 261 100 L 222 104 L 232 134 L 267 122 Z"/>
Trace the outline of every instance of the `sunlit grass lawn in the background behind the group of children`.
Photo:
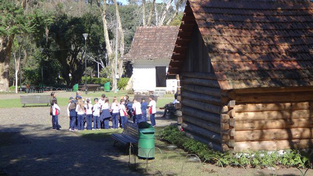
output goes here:
<path id="1" fill-rule="evenodd" d="M 94 99 L 94 98 L 100 98 L 101 97 L 101 94 L 105 93 L 107 97 L 110 98 L 110 103 L 112 103 L 112 98 L 114 96 L 116 97 L 120 97 L 120 96 L 123 96 L 123 95 L 126 95 L 127 92 L 125 90 L 122 90 L 122 91 L 119 91 L 117 94 L 114 93 L 114 92 L 104 92 L 104 91 L 99 91 L 99 92 L 90 92 L 88 93 L 88 95 L 85 95 L 83 94 L 83 98 L 91 98 L 91 99 Z M 48 94 L 48 93 L 46 93 Z M 28 95 L 28 94 L 23 94 L 23 95 Z M 31 95 L 31 94 L 29 94 Z M 68 104 L 68 97 L 69 96 L 75 96 L 75 92 L 59 92 L 57 93 L 57 98 L 58 98 L 58 104 L 59 106 L 66 106 Z M 134 95 L 129 95 L 130 96 L 130 99 L 132 100 L 134 98 Z M 166 94 L 166 96 L 164 97 L 159 97 L 157 99 L 157 102 L 156 102 L 156 107 L 163 107 L 165 104 L 169 103 L 169 102 L 172 102 L 173 101 L 173 94 Z M 20 108 L 22 107 L 23 104 L 20 102 L 20 98 L 12 98 L 12 99 L 2 99 L 0 100 L 0 108 Z M 44 104 L 39 104 L 39 105 L 36 105 L 36 104 L 30 104 L 30 105 L 26 105 L 28 107 L 30 106 L 45 106 Z"/>

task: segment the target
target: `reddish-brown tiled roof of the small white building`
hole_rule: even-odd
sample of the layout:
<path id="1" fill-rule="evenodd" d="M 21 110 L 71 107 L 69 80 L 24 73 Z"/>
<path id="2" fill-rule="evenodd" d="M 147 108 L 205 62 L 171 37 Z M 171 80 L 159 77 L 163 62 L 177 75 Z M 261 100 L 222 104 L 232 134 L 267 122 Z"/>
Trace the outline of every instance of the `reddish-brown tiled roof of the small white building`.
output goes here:
<path id="1" fill-rule="evenodd" d="M 134 41 L 125 59 L 170 59 L 179 26 L 137 27 Z"/>

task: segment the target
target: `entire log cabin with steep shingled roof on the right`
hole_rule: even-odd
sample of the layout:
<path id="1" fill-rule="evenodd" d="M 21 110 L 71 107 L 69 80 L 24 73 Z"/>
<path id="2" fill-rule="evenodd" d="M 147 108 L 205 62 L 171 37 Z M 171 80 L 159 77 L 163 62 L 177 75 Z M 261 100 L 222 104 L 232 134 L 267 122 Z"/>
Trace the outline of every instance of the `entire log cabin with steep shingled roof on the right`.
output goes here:
<path id="1" fill-rule="evenodd" d="M 226 152 L 313 147 L 313 2 L 188 0 L 169 64 L 179 126 Z"/>

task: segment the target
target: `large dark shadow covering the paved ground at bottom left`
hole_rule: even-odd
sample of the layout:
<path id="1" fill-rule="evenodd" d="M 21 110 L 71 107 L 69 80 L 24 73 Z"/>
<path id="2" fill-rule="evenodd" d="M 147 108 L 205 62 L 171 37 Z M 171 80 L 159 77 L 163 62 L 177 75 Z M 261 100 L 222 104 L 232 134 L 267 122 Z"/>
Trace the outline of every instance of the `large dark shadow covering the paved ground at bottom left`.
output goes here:
<path id="1" fill-rule="evenodd" d="M 65 130 L 24 132 L 27 126 L 0 127 L 0 176 L 143 175 L 128 168 L 128 155 L 108 136 L 95 142 Z"/>

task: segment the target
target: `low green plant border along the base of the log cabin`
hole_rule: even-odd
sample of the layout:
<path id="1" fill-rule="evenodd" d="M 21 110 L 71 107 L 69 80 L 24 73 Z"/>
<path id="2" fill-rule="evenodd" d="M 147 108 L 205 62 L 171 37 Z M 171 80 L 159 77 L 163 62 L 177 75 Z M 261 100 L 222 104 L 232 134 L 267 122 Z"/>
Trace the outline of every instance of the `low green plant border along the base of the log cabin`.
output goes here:
<path id="1" fill-rule="evenodd" d="M 214 159 L 218 158 L 223 166 L 240 164 L 245 167 L 282 165 L 286 167 L 312 168 L 312 160 L 310 160 L 309 154 L 297 150 L 285 150 L 285 154 L 283 155 L 280 155 L 277 152 L 268 153 L 267 151 L 244 151 L 243 153 L 235 155 L 222 153 L 210 149 L 204 143 L 186 137 L 184 132 L 179 132 L 175 126 L 165 127 L 157 137 L 161 140 L 177 145 L 188 153 L 197 154 L 201 160 L 220 164 Z"/>

